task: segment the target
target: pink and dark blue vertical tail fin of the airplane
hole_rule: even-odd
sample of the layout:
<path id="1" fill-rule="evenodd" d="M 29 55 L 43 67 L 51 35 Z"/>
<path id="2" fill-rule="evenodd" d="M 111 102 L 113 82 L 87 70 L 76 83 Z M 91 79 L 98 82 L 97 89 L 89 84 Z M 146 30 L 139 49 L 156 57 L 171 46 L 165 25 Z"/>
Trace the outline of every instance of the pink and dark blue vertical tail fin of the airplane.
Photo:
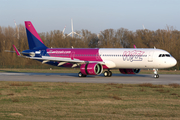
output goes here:
<path id="1" fill-rule="evenodd" d="M 25 21 L 26 34 L 29 44 L 29 49 L 46 49 L 43 41 L 39 37 L 37 31 L 35 30 L 33 24 L 30 21 Z"/>

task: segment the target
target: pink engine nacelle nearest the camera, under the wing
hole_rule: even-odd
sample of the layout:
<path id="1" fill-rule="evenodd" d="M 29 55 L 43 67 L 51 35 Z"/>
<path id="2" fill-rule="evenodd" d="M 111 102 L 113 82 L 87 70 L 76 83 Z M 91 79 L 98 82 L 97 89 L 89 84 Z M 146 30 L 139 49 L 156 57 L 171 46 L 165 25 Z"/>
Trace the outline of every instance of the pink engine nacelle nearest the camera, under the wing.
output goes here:
<path id="1" fill-rule="evenodd" d="M 80 71 L 84 75 L 99 75 L 102 73 L 103 67 L 98 63 L 87 63 L 81 65 Z"/>

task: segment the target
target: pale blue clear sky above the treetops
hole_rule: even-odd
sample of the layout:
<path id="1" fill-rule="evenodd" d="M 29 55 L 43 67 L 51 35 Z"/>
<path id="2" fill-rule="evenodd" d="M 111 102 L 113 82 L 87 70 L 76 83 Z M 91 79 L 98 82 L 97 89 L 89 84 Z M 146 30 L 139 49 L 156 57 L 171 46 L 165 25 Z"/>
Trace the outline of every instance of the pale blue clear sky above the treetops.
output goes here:
<path id="1" fill-rule="evenodd" d="M 49 32 L 87 29 L 99 33 L 105 29 L 180 30 L 180 0 L 0 0 L 0 26 L 14 27 L 31 21 L 36 30 Z"/>

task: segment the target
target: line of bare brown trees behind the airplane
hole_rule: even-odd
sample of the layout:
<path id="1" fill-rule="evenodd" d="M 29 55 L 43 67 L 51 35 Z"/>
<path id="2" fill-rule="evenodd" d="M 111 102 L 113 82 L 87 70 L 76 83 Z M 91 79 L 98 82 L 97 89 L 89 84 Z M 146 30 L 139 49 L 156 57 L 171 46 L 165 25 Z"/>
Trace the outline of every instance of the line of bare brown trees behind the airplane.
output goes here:
<path id="1" fill-rule="evenodd" d="M 166 29 L 156 31 L 140 29 L 130 31 L 125 28 L 106 29 L 99 34 L 91 33 L 82 29 L 76 31 L 81 34 L 64 37 L 62 31 L 54 30 L 46 33 L 39 33 L 42 41 L 47 47 L 53 48 L 158 48 L 163 49 L 176 58 L 175 69 L 180 68 L 180 31 L 173 27 L 166 26 Z M 19 34 L 19 35 L 18 35 Z M 5 50 L 14 51 L 13 45 L 19 51 L 29 49 L 25 27 L 18 25 L 14 27 L 0 26 L 0 68 L 47 68 L 40 62 L 19 58 L 16 54 L 7 53 Z"/>

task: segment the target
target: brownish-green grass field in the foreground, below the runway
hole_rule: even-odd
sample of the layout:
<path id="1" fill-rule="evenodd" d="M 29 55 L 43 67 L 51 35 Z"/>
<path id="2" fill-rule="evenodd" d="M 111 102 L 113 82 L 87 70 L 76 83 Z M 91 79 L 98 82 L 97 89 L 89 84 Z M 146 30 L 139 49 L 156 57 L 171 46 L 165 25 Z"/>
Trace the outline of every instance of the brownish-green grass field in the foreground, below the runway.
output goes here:
<path id="1" fill-rule="evenodd" d="M 0 119 L 180 119 L 180 85 L 0 82 Z"/>

